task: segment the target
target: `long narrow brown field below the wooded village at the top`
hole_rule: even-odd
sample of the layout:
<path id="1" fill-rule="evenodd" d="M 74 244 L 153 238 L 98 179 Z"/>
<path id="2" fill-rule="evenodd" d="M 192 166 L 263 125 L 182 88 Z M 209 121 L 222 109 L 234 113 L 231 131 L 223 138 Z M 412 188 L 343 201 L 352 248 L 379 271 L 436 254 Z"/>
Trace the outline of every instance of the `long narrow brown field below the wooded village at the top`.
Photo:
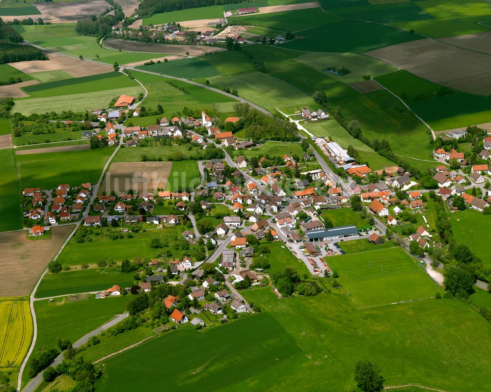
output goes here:
<path id="1" fill-rule="evenodd" d="M 221 52 L 225 50 L 223 48 L 214 48 L 211 46 L 147 44 L 145 42 L 128 41 L 115 38 L 109 38 L 104 41 L 104 43 L 109 49 L 121 49 L 121 51 L 124 52 L 169 53 L 183 55 L 185 55 L 186 52 L 189 52 L 191 56 L 199 56 L 205 53 Z"/>

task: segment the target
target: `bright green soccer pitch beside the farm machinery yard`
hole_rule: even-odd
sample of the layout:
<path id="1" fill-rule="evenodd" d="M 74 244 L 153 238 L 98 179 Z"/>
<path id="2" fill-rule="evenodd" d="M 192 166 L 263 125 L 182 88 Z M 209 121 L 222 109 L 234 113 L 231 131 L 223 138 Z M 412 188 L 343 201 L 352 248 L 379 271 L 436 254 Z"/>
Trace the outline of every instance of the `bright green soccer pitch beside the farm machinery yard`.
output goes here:
<path id="1" fill-rule="evenodd" d="M 430 277 L 402 248 L 328 257 L 358 308 L 372 308 L 433 297 Z"/>

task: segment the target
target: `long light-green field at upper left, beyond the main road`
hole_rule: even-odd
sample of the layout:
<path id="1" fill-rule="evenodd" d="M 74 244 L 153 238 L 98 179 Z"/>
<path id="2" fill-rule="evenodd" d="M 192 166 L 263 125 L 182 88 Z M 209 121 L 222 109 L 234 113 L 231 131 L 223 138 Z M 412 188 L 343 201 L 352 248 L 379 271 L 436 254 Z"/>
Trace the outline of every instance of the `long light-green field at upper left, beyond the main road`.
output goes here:
<path id="1" fill-rule="evenodd" d="M 56 52 L 75 57 L 82 55 L 83 58 L 110 65 L 114 62 L 125 64 L 155 57 L 152 53 L 118 52 L 102 48 L 98 45 L 96 37 L 78 35 L 75 32 L 75 24 L 71 23 L 22 27 L 24 31 L 21 31 L 21 34 L 26 41 Z"/>

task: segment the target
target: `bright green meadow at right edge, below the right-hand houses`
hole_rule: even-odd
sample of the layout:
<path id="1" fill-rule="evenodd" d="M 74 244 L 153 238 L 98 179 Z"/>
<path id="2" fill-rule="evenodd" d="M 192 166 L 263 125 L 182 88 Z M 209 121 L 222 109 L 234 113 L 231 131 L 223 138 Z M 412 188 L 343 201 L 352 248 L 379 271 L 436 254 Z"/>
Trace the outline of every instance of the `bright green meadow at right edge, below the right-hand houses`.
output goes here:
<path id="1" fill-rule="evenodd" d="M 452 232 L 459 244 L 466 244 L 487 267 L 491 267 L 491 242 L 483 241 L 483 228 L 490 227 L 490 215 L 473 209 L 464 209 L 450 215 Z"/>

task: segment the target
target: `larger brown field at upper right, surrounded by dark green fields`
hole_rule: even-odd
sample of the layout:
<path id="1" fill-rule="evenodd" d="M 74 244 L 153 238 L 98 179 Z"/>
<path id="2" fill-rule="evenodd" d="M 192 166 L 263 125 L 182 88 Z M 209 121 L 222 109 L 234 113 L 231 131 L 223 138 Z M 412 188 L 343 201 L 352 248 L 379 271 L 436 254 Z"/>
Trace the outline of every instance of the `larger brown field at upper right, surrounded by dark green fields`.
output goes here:
<path id="1" fill-rule="evenodd" d="M 491 93 L 491 56 L 430 39 L 392 45 L 364 54 L 414 75 L 473 94 Z"/>

